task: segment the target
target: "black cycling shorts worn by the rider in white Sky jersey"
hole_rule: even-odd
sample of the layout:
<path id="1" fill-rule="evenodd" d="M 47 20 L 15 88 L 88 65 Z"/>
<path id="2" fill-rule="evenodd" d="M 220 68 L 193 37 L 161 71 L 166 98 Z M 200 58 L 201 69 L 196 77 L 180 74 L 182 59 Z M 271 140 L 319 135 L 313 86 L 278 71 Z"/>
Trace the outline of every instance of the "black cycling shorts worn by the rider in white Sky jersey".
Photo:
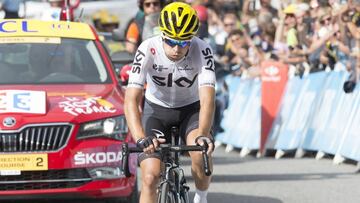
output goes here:
<path id="1" fill-rule="evenodd" d="M 187 135 L 199 127 L 199 112 L 199 101 L 179 108 L 166 108 L 145 100 L 142 126 L 146 136 L 163 134 L 168 143 L 171 141 L 171 127 L 176 126 L 180 137 L 186 141 Z M 149 157 L 160 159 L 158 153 L 141 153 L 139 162 Z"/>

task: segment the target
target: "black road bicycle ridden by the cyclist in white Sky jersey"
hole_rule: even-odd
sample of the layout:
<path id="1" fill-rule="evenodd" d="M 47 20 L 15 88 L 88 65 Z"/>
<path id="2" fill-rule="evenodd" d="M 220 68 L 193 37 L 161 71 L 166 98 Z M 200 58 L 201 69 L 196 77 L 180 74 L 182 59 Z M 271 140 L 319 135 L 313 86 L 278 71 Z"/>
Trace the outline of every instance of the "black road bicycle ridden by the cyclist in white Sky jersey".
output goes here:
<path id="1" fill-rule="evenodd" d="M 209 168 L 209 157 L 206 153 L 208 146 L 181 144 L 178 129 L 171 128 L 171 144 L 160 144 L 155 150 L 161 154 L 161 161 L 165 168 L 160 174 L 160 183 L 158 185 L 158 203 L 188 203 L 189 186 L 186 184 L 184 170 L 180 166 L 180 154 L 189 151 L 201 151 L 203 157 L 204 172 L 207 176 L 211 175 Z M 126 177 L 130 177 L 128 167 L 128 156 L 130 153 L 143 152 L 139 147 L 129 148 L 127 143 L 122 145 L 122 172 Z"/>

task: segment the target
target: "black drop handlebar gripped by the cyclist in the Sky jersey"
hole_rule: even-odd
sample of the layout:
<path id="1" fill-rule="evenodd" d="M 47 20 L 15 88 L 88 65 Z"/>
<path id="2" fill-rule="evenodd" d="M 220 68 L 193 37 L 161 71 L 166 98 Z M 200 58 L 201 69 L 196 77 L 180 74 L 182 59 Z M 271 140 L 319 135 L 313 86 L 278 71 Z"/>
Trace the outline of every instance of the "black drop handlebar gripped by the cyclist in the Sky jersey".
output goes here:
<path id="1" fill-rule="evenodd" d="M 201 151 L 203 157 L 203 165 L 204 165 L 204 172 L 205 175 L 210 176 L 211 170 L 209 167 L 209 156 L 207 155 L 208 146 L 198 146 L 198 145 L 181 145 L 181 146 L 172 146 L 170 144 L 160 144 L 158 148 L 155 149 L 156 152 L 162 153 L 163 151 L 170 151 L 170 152 L 189 152 L 189 151 Z M 122 144 L 122 173 L 126 177 L 130 177 L 129 171 L 129 154 L 130 153 L 140 153 L 143 152 L 143 149 L 140 147 L 130 147 L 128 143 Z"/>

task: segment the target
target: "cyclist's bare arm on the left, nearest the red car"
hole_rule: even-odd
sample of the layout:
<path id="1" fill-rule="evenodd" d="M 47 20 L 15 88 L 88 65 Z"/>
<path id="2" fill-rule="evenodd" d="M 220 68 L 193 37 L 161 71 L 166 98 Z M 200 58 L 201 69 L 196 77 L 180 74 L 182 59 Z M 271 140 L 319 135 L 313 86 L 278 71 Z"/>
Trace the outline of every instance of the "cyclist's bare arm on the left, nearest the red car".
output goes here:
<path id="1" fill-rule="evenodd" d="M 143 89 L 127 88 L 125 93 L 125 117 L 130 132 L 135 141 L 145 137 L 144 129 L 141 125 L 141 113 L 139 109 L 143 97 Z"/>

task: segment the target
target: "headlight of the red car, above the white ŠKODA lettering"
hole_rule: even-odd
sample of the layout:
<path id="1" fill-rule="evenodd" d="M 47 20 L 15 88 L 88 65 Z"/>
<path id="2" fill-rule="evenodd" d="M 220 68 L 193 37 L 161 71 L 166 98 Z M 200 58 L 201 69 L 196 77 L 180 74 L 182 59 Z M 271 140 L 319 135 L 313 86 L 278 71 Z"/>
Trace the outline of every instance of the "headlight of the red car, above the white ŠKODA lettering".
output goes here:
<path id="1" fill-rule="evenodd" d="M 81 124 L 77 139 L 108 137 L 124 140 L 128 131 L 125 117 L 118 116 Z"/>

